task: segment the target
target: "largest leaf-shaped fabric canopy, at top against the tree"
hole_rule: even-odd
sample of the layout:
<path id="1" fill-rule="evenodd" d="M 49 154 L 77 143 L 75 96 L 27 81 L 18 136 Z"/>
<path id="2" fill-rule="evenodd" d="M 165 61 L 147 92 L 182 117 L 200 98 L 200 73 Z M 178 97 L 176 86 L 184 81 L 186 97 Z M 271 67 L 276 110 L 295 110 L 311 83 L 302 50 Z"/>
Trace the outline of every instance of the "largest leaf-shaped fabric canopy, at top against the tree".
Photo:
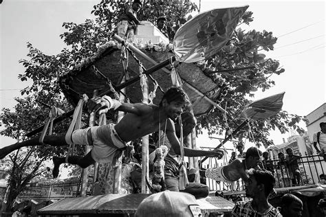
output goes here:
<path id="1" fill-rule="evenodd" d="M 177 60 L 198 62 L 216 54 L 226 45 L 248 7 L 213 9 L 184 23 L 173 38 Z"/>

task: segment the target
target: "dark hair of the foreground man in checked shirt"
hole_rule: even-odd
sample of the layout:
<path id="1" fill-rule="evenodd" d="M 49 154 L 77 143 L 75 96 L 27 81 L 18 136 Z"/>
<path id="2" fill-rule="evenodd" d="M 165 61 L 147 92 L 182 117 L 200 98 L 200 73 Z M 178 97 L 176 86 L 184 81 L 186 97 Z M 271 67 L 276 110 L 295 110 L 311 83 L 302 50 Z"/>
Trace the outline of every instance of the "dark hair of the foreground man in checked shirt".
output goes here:
<path id="1" fill-rule="evenodd" d="M 248 152 L 247 152 L 248 153 Z M 265 189 L 265 196 L 268 197 L 272 192 L 275 184 L 275 178 L 272 172 L 264 169 L 252 170 L 252 176 L 257 181 L 257 185 L 263 184 Z"/>

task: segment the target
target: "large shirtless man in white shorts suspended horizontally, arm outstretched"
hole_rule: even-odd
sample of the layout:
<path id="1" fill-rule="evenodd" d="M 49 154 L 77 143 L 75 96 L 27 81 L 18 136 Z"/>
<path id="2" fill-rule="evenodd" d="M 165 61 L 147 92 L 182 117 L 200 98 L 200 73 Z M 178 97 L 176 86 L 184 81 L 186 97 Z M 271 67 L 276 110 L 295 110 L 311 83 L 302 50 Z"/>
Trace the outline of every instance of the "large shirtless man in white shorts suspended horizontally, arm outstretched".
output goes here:
<path id="1" fill-rule="evenodd" d="M 45 136 L 44 144 L 50 146 L 67 146 L 67 144 L 92 145 L 93 148 L 85 157 L 53 157 L 54 177 L 58 176 L 59 166 L 62 163 L 79 165 L 87 168 L 94 162 L 112 162 L 120 150 L 126 148 L 127 142 L 138 139 L 149 133 L 165 130 L 166 136 L 173 146 L 180 147 L 180 142 L 175 135 L 173 121 L 182 113 L 182 109 L 190 104 L 188 96 L 180 87 L 171 87 L 164 93 L 160 105 L 144 103 L 124 103 L 113 100 L 105 95 L 102 98 L 94 98 L 87 102 L 89 112 L 105 113 L 110 109 L 124 111 L 127 114 L 118 124 L 107 124 L 103 126 L 92 126 L 85 129 L 75 130 L 72 137 L 65 139 L 65 135 Z M 166 126 L 165 126 L 166 125 Z M 24 146 L 39 146 L 39 137 L 12 144 L 0 149 L 0 159 L 3 159 L 10 152 Z M 175 148 L 177 155 L 180 155 L 180 148 Z M 193 157 L 193 150 L 184 148 L 184 155 Z M 223 156 L 223 151 L 204 151 L 196 153 L 195 156 L 219 157 Z"/>

